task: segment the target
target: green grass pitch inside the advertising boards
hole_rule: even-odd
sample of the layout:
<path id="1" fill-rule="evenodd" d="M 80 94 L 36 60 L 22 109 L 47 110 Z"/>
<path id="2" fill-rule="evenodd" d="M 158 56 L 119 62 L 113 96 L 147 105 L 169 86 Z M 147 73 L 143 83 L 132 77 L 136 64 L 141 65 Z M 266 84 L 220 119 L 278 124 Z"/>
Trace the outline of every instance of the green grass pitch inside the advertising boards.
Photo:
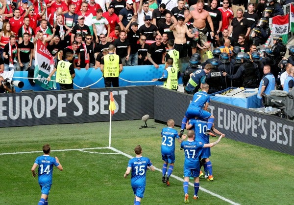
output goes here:
<path id="1" fill-rule="evenodd" d="M 160 132 L 165 125 L 152 119 L 148 125 L 156 128 L 139 129 L 141 125 L 141 120 L 112 122 L 111 146 L 135 156 L 134 147 L 141 144 L 143 156 L 161 170 Z M 43 153 L 45 143 L 51 145 L 51 156 L 57 156 L 64 168 L 54 168 L 49 204 L 133 204 L 130 176 L 123 178 L 129 158 L 115 150 L 102 149 L 109 145 L 109 122 L 0 128 L 0 133 L 0 205 L 38 203 L 40 187 L 30 168 Z M 211 142 L 215 140 L 211 138 Z M 99 148 L 84 149 L 95 147 Z M 22 153 L 4 154 L 15 152 Z M 200 186 L 217 196 L 202 189 L 195 201 L 194 189 L 189 186 L 190 204 L 230 204 L 225 200 L 242 205 L 294 204 L 294 156 L 227 138 L 212 147 L 211 153 L 215 180 L 200 179 Z M 143 205 L 184 204 L 184 153 L 177 142 L 175 155 L 173 175 L 178 178 L 170 178 L 171 186 L 167 187 L 161 182 L 160 171 L 148 171 Z"/>

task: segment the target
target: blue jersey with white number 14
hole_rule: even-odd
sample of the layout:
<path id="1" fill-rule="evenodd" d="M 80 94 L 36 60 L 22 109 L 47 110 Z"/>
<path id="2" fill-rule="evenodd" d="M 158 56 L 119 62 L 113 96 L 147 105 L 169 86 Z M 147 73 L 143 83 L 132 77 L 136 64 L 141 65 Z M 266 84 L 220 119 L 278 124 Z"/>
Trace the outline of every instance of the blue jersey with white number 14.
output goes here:
<path id="1" fill-rule="evenodd" d="M 53 165 L 58 166 L 54 157 L 49 155 L 42 155 L 37 157 L 35 164 L 39 165 L 38 180 L 40 185 L 52 184 Z"/>

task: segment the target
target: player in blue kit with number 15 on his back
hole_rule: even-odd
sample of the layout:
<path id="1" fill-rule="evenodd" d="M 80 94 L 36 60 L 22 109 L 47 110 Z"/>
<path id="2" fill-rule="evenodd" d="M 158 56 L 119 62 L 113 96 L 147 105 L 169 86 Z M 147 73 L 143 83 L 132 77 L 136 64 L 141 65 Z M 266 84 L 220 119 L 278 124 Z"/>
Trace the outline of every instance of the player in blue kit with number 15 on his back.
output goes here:
<path id="1" fill-rule="evenodd" d="M 129 160 L 123 177 L 126 178 L 132 172 L 131 185 L 135 194 L 134 205 L 140 205 L 145 192 L 146 171 L 147 169 L 151 171 L 155 169 L 149 158 L 142 157 L 142 147 L 140 145 L 135 147 L 135 153 L 136 157 Z"/>

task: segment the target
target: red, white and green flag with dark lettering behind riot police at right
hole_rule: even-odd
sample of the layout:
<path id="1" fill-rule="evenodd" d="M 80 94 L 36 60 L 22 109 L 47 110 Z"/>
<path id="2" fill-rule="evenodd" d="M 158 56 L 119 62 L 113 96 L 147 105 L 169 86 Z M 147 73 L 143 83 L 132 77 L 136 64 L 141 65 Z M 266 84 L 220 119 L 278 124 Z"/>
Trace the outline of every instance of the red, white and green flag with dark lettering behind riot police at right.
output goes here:
<path id="1" fill-rule="evenodd" d="M 287 44 L 289 32 L 289 14 L 285 16 L 275 16 L 272 18 L 272 34 L 281 35 L 283 43 Z"/>

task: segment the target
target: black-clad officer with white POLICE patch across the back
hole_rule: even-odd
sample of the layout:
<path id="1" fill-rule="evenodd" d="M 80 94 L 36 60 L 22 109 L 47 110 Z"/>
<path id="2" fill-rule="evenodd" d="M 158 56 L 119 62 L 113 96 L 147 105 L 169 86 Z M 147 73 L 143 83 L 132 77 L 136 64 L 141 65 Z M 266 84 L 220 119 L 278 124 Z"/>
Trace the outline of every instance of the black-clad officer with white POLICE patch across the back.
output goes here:
<path id="1" fill-rule="evenodd" d="M 210 74 L 208 74 L 206 81 L 206 83 L 209 84 L 209 94 L 223 90 L 221 87 L 222 77 L 219 70 L 219 61 L 216 59 L 211 59 L 210 64 L 212 65 L 212 69 Z"/>

